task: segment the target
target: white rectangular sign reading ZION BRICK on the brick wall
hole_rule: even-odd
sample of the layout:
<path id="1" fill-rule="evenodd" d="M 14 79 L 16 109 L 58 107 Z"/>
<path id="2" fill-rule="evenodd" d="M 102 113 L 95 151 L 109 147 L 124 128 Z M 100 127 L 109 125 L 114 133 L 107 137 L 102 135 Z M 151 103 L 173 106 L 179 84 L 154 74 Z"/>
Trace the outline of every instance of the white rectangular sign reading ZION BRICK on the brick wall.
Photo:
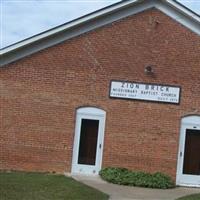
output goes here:
<path id="1" fill-rule="evenodd" d="M 111 81 L 110 97 L 178 104 L 180 90 L 176 86 Z"/>

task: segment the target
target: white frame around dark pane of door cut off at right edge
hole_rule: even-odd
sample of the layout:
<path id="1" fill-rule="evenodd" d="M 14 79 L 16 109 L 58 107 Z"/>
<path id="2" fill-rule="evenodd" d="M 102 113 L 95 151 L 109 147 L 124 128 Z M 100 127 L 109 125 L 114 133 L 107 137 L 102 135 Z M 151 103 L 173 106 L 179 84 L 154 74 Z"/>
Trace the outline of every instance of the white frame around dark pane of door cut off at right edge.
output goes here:
<path id="1" fill-rule="evenodd" d="M 176 184 L 181 186 L 200 187 L 200 175 L 183 174 L 183 162 L 185 156 L 184 152 L 187 129 L 200 130 L 200 116 L 187 116 L 182 118 L 181 120 Z"/>

